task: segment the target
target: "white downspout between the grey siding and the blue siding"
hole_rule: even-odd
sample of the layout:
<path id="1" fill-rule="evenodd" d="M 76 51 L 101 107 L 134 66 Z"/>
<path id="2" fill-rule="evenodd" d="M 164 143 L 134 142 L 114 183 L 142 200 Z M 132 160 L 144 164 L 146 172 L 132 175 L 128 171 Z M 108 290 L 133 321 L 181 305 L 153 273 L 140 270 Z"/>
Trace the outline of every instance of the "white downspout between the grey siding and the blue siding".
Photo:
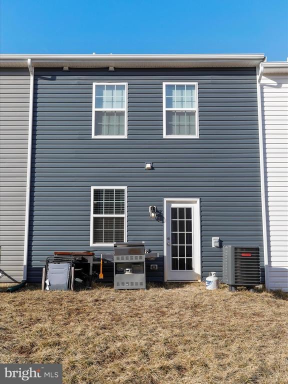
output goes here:
<path id="1" fill-rule="evenodd" d="M 27 279 L 28 260 L 28 236 L 29 236 L 29 210 L 30 210 L 30 180 L 31 180 L 31 154 L 32 154 L 32 126 L 33 126 L 33 96 L 34 96 L 34 67 L 31 59 L 27 59 L 30 72 L 30 94 L 29 94 L 29 122 L 28 122 L 28 150 L 27 150 L 27 178 L 26 178 L 26 208 L 25 208 L 25 231 L 24 231 L 24 257 L 23 257 L 23 280 Z"/>

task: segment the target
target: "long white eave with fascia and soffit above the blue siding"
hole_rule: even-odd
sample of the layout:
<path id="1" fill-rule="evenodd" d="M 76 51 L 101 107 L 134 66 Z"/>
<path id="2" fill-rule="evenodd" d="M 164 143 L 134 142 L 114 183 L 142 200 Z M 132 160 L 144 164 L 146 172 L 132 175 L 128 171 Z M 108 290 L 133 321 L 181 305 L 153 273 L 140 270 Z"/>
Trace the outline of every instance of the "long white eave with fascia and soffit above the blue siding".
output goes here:
<path id="1" fill-rule="evenodd" d="M 25 66 L 31 58 L 39 67 L 200 67 L 256 66 L 260 54 L 1 54 L 0 66 Z"/>

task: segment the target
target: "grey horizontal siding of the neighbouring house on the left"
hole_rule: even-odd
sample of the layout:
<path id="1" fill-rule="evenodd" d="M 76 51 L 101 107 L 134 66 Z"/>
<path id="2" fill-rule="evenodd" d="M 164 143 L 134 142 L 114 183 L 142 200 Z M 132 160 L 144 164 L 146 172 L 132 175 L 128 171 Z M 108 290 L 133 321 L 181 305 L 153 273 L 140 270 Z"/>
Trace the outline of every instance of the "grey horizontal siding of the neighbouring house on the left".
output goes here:
<path id="1" fill-rule="evenodd" d="M 0 70 L 0 282 L 23 277 L 30 76 Z"/>

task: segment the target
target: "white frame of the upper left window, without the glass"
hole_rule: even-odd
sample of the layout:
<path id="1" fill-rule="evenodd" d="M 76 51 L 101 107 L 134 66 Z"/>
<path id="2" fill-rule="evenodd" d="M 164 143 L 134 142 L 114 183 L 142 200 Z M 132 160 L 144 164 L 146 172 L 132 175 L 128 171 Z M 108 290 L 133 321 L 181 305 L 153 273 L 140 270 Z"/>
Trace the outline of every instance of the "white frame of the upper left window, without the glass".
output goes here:
<path id="1" fill-rule="evenodd" d="M 125 108 L 95 108 L 95 89 L 96 85 L 125 85 Z M 128 127 L 128 83 L 127 82 L 93 82 L 93 91 L 92 91 L 92 138 L 127 138 L 127 127 Z M 95 134 L 95 111 L 124 111 L 125 112 L 125 131 L 123 135 L 101 135 Z"/>

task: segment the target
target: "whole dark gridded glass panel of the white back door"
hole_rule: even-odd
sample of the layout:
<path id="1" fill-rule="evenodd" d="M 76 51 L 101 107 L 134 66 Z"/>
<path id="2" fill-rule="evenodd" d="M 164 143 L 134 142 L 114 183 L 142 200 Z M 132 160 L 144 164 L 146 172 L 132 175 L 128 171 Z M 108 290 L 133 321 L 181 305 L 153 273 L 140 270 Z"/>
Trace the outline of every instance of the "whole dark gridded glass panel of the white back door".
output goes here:
<path id="1" fill-rule="evenodd" d="M 171 208 L 171 269 L 192 270 L 192 208 Z"/>

